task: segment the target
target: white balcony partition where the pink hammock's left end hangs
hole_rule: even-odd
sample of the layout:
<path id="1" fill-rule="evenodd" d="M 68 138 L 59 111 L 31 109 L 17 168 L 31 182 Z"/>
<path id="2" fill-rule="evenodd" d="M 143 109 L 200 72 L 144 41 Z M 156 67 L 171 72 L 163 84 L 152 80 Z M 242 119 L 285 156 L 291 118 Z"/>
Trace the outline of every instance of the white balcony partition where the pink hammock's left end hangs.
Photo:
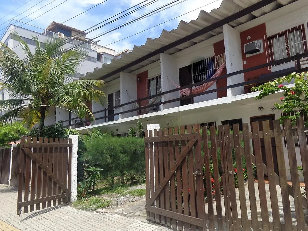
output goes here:
<path id="1" fill-rule="evenodd" d="M 172 80 L 177 85 L 180 85 L 179 69 L 177 67 L 176 58 L 161 53 L 160 54 L 160 73 L 161 73 L 161 91 L 169 91 L 175 89 L 176 86 L 170 81 Z M 168 79 L 169 78 L 169 79 Z M 161 101 L 168 101 L 170 99 L 176 99 L 180 97 L 180 91 L 172 92 L 166 95 L 162 95 Z M 160 105 L 160 110 L 164 110 L 172 107 L 179 107 L 180 101 L 167 103 Z"/>

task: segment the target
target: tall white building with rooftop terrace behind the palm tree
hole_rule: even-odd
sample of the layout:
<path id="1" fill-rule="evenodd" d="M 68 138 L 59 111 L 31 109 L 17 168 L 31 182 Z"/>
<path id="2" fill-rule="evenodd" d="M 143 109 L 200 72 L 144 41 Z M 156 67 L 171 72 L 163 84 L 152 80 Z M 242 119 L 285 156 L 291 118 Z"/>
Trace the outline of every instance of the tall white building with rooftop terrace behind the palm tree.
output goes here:
<path id="1" fill-rule="evenodd" d="M 79 67 L 78 74 L 72 76 L 73 79 L 79 79 L 80 76 L 87 74 L 88 72 L 93 72 L 96 68 L 101 68 L 104 63 L 111 63 L 112 59 L 116 59 L 117 56 L 115 51 L 107 47 L 100 46 L 87 38 L 87 33 L 82 30 L 72 28 L 70 26 L 63 25 L 58 22 L 52 22 L 46 29 L 42 29 L 36 26 L 32 26 L 27 23 L 23 23 L 16 20 L 11 20 L 9 26 L 6 28 L 1 42 L 5 43 L 9 48 L 13 48 L 14 52 L 24 59 L 25 55 L 21 46 L 18 46 L 16 40 L 11 38 L 11 34 L 17 32 L 24 41 L 28 44 L 31 51 L 35 50 L 35 43 L 32 38 L 38 36 L 40 42 L 44 42 L 48 37 L 58 38 L 59 33 L 63 34 L 63 39 L 67 39 L 67 44 L 65 48 L 69 49 L 73 46 L 81 44 L 81 46 L 87 52 L 87 59 L 83 61 L 82 66 Z M 70 38 L 70 39 L 68 39 Z M 10 99 L 10 95 L 5 90 L 1 92 L 1 100 Z M 2 111 L 2 114 L 4 112 Z M 52 109 L 49 111 L 47 118 L 45 119 L 45 125 L 54 124 L 55 122 L 71 118 L 70 113 L 61 109 Z"/>

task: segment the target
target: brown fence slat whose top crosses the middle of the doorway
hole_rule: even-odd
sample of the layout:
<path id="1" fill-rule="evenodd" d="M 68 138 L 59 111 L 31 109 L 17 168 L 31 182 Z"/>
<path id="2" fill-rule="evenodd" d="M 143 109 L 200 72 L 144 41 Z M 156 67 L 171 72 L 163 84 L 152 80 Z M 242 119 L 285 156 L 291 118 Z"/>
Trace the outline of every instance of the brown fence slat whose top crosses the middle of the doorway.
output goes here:
<path id="1" fill-rule="evenodd" d="M 262 121 L 262 128 L 263 128 L 263 137 L 264 137 L 263 139 L 264 139 L 266 165 L 268 173 L 267 176 L 269 179 L 270 201 L 271 201 L 271 208 L 273 215 L 274 231 L 276 230 L 278 231 L 280 230 L 280 217 L 279 217 L 274 161 L 272 153 L 272 142 L 270 137 L 270 123 L 268 120 Z"/>

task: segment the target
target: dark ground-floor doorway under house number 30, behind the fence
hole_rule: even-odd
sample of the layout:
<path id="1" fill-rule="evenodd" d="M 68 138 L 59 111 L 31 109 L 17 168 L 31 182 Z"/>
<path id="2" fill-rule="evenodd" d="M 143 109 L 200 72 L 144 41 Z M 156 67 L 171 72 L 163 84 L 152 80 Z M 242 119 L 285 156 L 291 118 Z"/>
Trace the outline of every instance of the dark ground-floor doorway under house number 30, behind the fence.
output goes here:
<path id="1" fill-rule="evenodd" d="M 266 121 L 266 120 L 269 121 L 270 130 L 274 130 L 274 126 L 273 126 L 273 120 L 275 120 L 274 114 L 273 115 L 262 115 L 262 116 L 250 117 L 250 126 L 252 128 L 252 122 L 259 122 L 259 130 L 263 131 L 262 121 Z M 264 139 L 263 138 L 260 139 L 260 143 L 261 143 L 262 160 L 263 160 L 263 163 L 266 164 L 265 145 L 264 145 Z M 276 153 L 276 144 L 275 144 L 275 138 L 274 137 L 271 138 L 271 143 L 272 143 L 274 170 L 275 170 L 275 173 L 278 174 L 277 153 Z"/>

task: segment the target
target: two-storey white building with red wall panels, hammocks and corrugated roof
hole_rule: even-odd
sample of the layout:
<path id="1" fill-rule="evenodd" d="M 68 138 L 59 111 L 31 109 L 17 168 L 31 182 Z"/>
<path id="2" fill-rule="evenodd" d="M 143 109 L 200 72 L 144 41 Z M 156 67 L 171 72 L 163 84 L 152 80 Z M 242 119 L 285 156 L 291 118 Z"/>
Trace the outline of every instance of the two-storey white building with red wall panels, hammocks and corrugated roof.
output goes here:
<path id="1" fill-rule="evenodd" d="M 253 1 L 257 2 L 261 0 Z M 148 39 L 144 45 L 112 60 L 110 65 L 87 73 L 83 78 L 106 82 L 103 91 L 108 95 L 108 103 L 103 107 L 91 105 L 96 121 L 88 123 L 87 128 L 112 131 L 120 136 L 139 120 L 144 126 L 160 124 L 160 128 L 238 123 L 241 129 L 242 123 L 249 123 L 250 129 L 251 122 L 281 117 L 282 111 L 274 103 L 279 102 L 282 93 L 256 100 L 258 92 L 251 92 L 250 88 L 297 68 L 307 69 L 308 1 L 277 0 L 214 27 L 253 3 L 223 0 L 218 9 L 210 13 L 201 10 L 196 20 L 181 21 L 176 29 L 163 30 L 159 38 Z M 209 29 L 173 46 L 173 42 L 203 28 Z M 297 53 L 300 66 L 290 58 Z M 224 63 L 226 67 L 221 70 Z M 210 81 L 218 70 L 221 78 Z M 231 74 L 234 72 L 237 74 Z M 193 98 L 180 98 L 176 85 L 184 87 L 192 83 L 196 87 L 202 81 L 211 83 L 206 91 L 193 93 Z M 68 126 L 68 121 L 64 125 Z M 78 127 L 76 124 L 76 129 L 85 132 L 84 127 Z M 288 165 L 287 155 L 285 161 Z"/>

